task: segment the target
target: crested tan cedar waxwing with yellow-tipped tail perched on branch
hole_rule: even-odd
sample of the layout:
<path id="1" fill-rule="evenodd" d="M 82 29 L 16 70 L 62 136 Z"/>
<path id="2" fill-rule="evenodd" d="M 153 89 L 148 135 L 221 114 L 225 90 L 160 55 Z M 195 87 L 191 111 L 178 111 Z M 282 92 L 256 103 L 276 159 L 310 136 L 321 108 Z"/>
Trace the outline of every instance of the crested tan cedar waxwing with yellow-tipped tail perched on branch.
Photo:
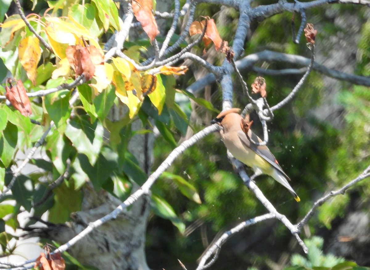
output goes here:
<path id="1" fill-rule="evenodd" d="M 296 201 L 300 201 L 295 191 L 290 186 L 289 177 L 280 167 L 274 155 L 270 152 L 267 146 L 257 146 L 249 139 L 255 142 L 262 140 L 247 129 L 248 137 L 245 134 L 243 126 L 243 118 L 240 116 L 240 109 L 230 109 L 220 113 L 211 123 L 217 123 L 223 129 L 220 131 L 221 138 L 230 153 L 242 163 L 251 167 L 256 176 L 260 174 L 268 174 L 280 184 L 285 186 L 290 193 L 293 194 Z"/>

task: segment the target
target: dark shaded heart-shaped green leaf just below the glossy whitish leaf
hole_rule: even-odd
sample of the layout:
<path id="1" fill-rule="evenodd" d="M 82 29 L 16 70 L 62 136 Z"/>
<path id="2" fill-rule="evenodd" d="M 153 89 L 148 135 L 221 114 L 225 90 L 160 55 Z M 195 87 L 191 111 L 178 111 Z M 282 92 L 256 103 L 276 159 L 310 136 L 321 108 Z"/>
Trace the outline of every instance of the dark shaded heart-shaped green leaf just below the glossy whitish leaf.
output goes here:
<path id="1" fill-rule="evenodd" d="M 82 169 L 88 175 L 96 190 L 100 189 L 105 180 L 110 177 L 118 167 L 118 155 L 109 147 L 103 147 L 98 160 L 91 166 L 85 155 L 78 154 Z"/>

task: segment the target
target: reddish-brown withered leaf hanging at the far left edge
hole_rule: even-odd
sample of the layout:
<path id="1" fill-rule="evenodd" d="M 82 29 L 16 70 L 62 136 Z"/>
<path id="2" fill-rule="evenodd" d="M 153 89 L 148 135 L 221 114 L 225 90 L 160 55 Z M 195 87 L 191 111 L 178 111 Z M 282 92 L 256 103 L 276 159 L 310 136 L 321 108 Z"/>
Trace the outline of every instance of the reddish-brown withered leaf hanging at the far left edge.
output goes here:
<path id="1" fill-rule="evenodd" d="M 20 111 L 24 116 L 29 116 L 31 111 L 30 99 L 28 99 L 26 89 L 24 89 L 23 83 L 21 80 L 16 81 L 14 79 L 8 78 L 7 83 L 9 86 L 5 87 L 6 93 L 5 97 L 10 103 Z M 12 84 L 12 81 L 15 81 L 16 84 Z"/>

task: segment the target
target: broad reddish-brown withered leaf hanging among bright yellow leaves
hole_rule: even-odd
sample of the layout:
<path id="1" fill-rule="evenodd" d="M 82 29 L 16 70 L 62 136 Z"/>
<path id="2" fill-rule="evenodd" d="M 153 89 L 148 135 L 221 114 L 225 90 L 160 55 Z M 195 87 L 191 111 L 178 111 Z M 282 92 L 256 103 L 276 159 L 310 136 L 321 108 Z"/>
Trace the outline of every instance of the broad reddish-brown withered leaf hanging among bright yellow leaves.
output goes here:
<path id="1" fill-rule="evenodd" d="M 95 73 L 95 65 L 103 62 L 103 57 L 95 46 L 85 47 L 80 44 L 68 46 L 65 54 L 76 78 L 84 74 L 86 80 L 90 80 Z"/>

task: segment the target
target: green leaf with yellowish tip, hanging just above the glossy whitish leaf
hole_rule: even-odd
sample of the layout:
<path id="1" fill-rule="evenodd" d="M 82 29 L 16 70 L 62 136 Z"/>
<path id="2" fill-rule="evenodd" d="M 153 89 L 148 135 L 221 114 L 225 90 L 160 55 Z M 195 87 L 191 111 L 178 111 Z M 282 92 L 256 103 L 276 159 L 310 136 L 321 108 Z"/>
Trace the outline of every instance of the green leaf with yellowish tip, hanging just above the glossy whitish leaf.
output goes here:
<path id="1" fill-rule="evenodd" d="M 71 115 L 70 95 L 69 90 L 63 90 L 44 97 L 45 109 L 61 134 L 63 134 L 67 119 Z"/>

